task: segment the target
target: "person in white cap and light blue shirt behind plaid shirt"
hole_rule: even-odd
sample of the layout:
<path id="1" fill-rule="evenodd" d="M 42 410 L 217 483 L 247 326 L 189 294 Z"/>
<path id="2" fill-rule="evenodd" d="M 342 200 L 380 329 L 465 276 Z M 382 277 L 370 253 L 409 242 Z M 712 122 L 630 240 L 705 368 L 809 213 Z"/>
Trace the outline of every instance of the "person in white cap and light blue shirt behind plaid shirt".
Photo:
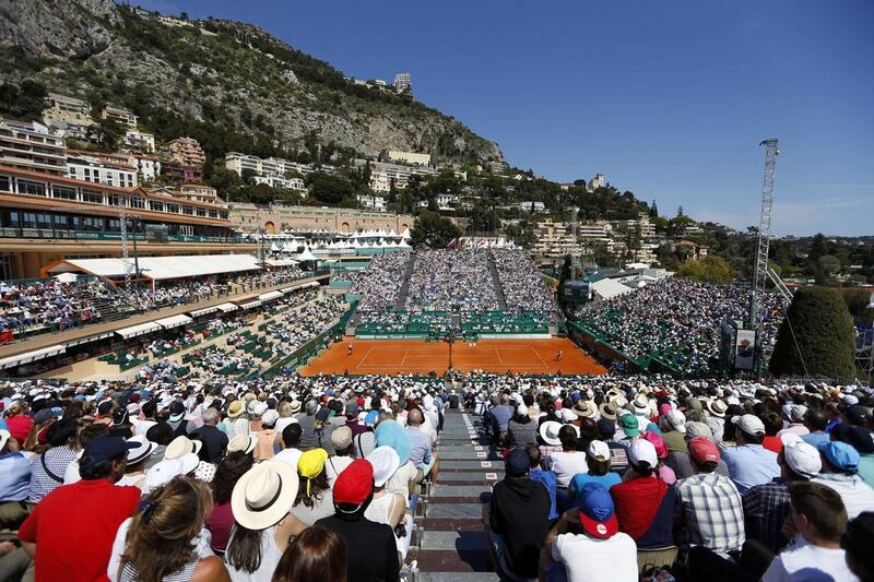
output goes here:
<path id="1" fill-rule="evenodd" d="M 724 448 L 722 458 L 737 490 L 743 494 L 754 485 L 769 483 L 779 477 L 777 453 L 761 446 L 765 438 L 765 425 L 761 420 L 757 416 L 745 414 L 735 416 L 731 421 L 736 428 L 737 447 Z"/>

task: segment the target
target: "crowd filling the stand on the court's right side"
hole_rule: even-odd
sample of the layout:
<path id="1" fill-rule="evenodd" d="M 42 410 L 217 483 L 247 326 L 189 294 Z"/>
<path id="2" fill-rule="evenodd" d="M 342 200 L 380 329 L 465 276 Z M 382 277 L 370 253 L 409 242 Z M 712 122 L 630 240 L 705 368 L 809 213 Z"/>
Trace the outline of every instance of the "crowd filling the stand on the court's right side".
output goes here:
<path id="1" fill-rule="evenodd" d="M 760 343 L 772 345 L 783 317 L 782 298 L 766 294 Z M 709 371 L 719 353 L 720 325 L 744 321 L 749 290 L 666 277 L 618 297 L 586 304 L 581 323 L 633 359 L 658 356 L 683 373 Z"/>

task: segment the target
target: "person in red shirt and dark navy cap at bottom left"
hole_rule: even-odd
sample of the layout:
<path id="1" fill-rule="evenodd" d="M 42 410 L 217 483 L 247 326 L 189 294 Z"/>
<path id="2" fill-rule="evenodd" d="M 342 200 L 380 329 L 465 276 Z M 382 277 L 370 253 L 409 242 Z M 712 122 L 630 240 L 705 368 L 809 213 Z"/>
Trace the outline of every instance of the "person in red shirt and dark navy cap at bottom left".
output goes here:
<path id="1" fill-rule="evenodd" d="M 37 580 L 99 580 L 118 526 L 140 502 L 135 487 L 116 487 L 131 444 L 119 437 L 91 441 L 80 461 L 82 480 L 49 492 L 19 530 L 35 560 Z"/>

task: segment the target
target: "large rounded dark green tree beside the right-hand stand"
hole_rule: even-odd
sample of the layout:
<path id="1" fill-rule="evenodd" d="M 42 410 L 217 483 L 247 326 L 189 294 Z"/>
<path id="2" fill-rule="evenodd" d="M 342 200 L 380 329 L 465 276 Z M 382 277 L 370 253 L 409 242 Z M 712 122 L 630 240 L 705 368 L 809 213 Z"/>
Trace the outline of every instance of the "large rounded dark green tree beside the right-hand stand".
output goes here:
<path id="1" fill-rule="evenodd" d="M 795 290 L 777 335 L 770 371 L 846 382 L 855 377 L 854 357 L 853 319 L 838 292 L 828 287 Z"/>

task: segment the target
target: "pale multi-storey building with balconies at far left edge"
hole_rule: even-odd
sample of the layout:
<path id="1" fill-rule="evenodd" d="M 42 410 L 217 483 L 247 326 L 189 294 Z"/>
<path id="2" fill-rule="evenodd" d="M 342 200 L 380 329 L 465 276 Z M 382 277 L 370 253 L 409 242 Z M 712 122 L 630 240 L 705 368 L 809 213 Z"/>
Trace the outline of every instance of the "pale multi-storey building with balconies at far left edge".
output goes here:
<path id="1" fill-rule="evenodd" d="M 67 176 L 67 142 L 43 123 L 0 118 L 0 166 Z"/>

